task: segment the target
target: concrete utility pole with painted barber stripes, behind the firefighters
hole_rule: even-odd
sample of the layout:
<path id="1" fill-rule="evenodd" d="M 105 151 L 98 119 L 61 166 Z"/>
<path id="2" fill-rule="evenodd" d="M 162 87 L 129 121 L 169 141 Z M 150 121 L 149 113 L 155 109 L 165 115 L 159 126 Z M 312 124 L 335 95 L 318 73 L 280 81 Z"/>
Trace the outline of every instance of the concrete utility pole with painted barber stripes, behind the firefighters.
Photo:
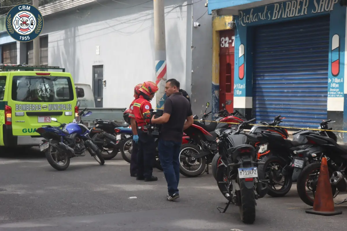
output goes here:
<path id="1" fill-rule="evenodd" d="M 155 83 L 159 90 L 156 94 L 156 108 L 162 108 L 166 99 L 166 43 L 164 0 L 154 0 L 154 43 L 155 43 Z"/>

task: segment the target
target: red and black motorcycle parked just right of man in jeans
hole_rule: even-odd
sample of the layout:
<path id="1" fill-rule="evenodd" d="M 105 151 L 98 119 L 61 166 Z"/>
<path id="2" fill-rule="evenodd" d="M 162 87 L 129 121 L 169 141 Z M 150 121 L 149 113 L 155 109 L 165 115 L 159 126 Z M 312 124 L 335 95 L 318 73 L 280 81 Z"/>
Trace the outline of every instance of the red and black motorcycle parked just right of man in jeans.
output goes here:
<path id="1" fill-rule="evenodd" d="M 229 105 L 231 100 L 227 100 Z M 209 164 L 212 162 L 214 155 L 218 152 L 217 134 L 227 127 L 235 127 L 237 123 L 245 121 L 245 117 L 237 110 L 230 114 L 224 104 L 223 110 L 218 112 L 218 118 L 210 124 L 204 122 L 212 112 L 206 113 L 209 103 L 206 104 L 205 113 L 197 121 L 198 117 L 194 116 L 194 123 L 184 130 L 186 136 L 189 136 L 191 142 L 181 146 L 180 151 L 180 173 L 187 177 L 197 177 L 203 174 L 206 164 L 206 172 L 209 174 Z M 231 123 L 231 124 L 229 124 Z M 207 163 L 206 163 L 207 162 Z"/>

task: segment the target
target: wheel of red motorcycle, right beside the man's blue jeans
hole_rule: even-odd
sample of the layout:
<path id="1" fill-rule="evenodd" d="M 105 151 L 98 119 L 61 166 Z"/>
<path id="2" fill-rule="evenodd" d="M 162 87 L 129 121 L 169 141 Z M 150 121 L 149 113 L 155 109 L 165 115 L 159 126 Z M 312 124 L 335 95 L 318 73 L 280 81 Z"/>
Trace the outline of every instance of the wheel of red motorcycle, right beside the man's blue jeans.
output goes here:
<path id="1" fill-rule="evenodd" d="M 180 174 L 186 177 L 197 177 L 200 174 L 202 174 L 203 171 L 205 171 L 206 157 L 198 158 L 196 162 L 200 163 L 199 168 L 195 171 L 189 171 L 182 166 L 184 164 L 183 162 L 186 161 L 186 158 L 184 157 L 183 152 L 189 151 L 189 150 L 192 151 L 194 154 L 198 154 L 201 151 L 201 149 L 194 144 L 183 144 L 181 146 L 180 153 L 179 153 L 179 162 L 180 162 L 179 172 Z"/>

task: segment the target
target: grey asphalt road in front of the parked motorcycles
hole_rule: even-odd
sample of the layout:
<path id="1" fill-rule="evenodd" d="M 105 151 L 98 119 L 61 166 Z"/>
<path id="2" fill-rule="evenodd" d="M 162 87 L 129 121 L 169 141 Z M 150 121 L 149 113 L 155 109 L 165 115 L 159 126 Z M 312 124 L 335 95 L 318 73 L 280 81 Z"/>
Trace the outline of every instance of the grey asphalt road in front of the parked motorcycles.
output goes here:
<path id="1" fill-rule="evenodd" d="M 259 199 L 255 223 L 245 225 L 234 205 L 218 212 L 226 199 L 212 174 L 182 176 L 181 197 L 168 202 L 163 173 L 154 170 L 156 182 L 137 181 L 120 154 L 104 166 L 90 156 L 73 158 L 60 172 L 33 149 L 0 153 L 0 231 L 346 230 L 347 206 L 337 206 L 343 213 L 336 216 L 306 214 L 295 185 L 285 197 Z"/>

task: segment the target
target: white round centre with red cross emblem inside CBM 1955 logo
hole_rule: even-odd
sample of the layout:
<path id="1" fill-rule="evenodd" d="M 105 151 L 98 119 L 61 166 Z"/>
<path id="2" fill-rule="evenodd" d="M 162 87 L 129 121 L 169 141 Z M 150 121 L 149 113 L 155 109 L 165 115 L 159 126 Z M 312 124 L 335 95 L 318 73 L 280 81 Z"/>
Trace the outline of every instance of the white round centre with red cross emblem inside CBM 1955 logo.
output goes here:
<path id="1" fill-rule="evenodd" d="M 26 11 L 18 12 L 13 17 L 13 26 L 17 33 L 26 35 L 33 32 L 36 26 L 36 18 Z"/>

